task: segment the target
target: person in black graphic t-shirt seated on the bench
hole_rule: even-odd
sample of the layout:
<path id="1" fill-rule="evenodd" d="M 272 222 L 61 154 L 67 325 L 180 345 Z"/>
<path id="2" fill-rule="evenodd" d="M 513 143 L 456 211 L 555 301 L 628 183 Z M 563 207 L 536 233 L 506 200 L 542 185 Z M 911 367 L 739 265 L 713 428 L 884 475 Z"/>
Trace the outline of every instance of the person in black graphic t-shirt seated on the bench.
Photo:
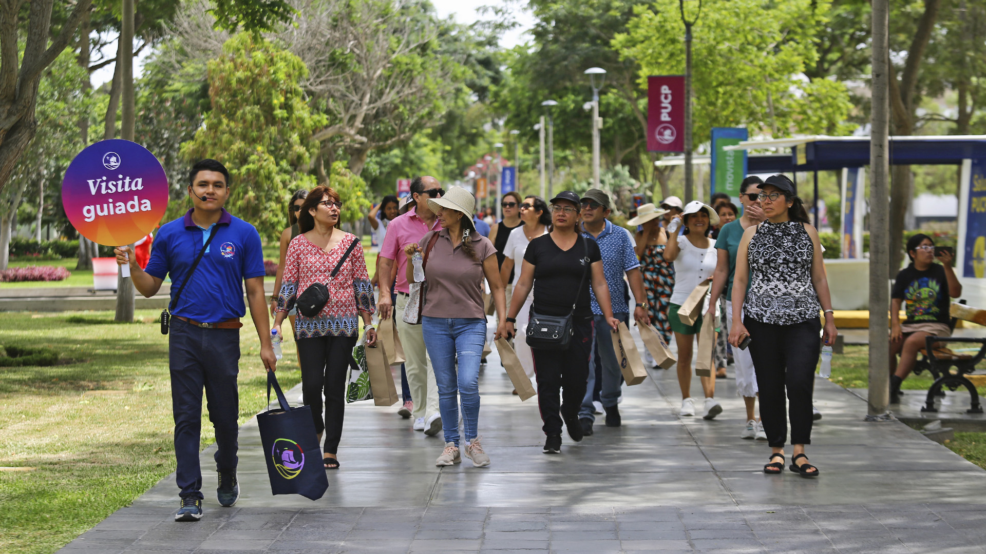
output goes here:
<path id="1" fill-rule="evenodd" d="M 911 264 L 897 273 L 890 293 L 890 403 L 899 401 L 900 383 L 914 369 L 925 337 L 951 336 L 951 299 L 962 286 L 951 269 L 951 248 L 935 249 L 927 235 L 907 241 Z M 941 264 L 935 263 L 938 258 Z M 900 322 L 900 304 L 906 302 L 907 319 Z M 897 362 L 897 355 L 900 362 Z"/>

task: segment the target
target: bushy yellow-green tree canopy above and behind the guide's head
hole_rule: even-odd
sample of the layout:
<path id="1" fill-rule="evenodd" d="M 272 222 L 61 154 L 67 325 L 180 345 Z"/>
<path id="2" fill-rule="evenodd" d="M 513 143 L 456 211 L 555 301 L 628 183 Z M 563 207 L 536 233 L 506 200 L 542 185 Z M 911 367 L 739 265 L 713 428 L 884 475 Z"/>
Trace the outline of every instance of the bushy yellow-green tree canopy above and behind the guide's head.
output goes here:
<path id="1" fill-rule="evenodd" d="M 299 84 L 308 70 L 298 56 L 241 33 L 208 63 L 208 74 L 212 109 L 181 154 L 223 162 L 231 173 L 230 211 L 275 239 L 283 228 L 270 214 L 284 210 L 291 191 L 315 185 L 306 168 L 325 117 L 312 112 Z"/>

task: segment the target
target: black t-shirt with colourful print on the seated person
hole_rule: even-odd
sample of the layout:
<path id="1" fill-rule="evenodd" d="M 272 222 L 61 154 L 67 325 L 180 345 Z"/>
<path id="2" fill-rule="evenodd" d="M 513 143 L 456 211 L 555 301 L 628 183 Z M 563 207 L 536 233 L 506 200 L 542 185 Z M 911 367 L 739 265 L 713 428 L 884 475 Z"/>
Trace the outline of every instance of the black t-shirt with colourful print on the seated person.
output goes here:
<path id="1" fill-rule="evenodd" d="M 904 323 L 951 322 L 949 281 L 945 268 L 934 264 L 924 271 L 908 266 L 897 273 L 890 298 L 904 301 Z"/>

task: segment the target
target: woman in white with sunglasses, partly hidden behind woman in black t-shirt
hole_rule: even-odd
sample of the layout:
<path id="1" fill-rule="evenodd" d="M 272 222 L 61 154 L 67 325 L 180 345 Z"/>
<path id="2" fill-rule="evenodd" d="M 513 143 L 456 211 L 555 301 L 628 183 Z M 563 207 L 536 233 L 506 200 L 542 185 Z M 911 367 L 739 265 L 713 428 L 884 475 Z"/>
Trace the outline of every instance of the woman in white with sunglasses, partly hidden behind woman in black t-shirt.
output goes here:
<path id="1" fill-rule="evenodd" d="M 500 278 L 504 283 L 507 283 L 507 278 L 510 277 L 510 271 L 514 269 L 515 264 L 524 261 L 524 252 L 528 250 L 528 243 L 548 232 L 548 226 L 551 225 L 551 213 L 548 211 L 547 202 L 540 196 L 531 195 L 525 198 L 521 204 L 521 221 L 523 225 L 510 232 L 507 245 L 503 248 L 506 257 L 500 267 Z M 521 272 L 517 271 L 514 280 L 516 281 L 520 277 Z M 534 293 L 531 291 L 524 306 L 521 307 L 521 312 L 517 313 L 517 336 L 514 338 L 514 350 L 517 351 L 517 357 L 521 360 L 521 365 L 524 366 L 524 371 L 527 372 L 528 377 L 534 375 L 534 359 L 528 347 L 527 339 L 528 312 L 530 312 L 530 305 L 533 301 Z M 514 394 L 517 394 L 516 389 Z"/>

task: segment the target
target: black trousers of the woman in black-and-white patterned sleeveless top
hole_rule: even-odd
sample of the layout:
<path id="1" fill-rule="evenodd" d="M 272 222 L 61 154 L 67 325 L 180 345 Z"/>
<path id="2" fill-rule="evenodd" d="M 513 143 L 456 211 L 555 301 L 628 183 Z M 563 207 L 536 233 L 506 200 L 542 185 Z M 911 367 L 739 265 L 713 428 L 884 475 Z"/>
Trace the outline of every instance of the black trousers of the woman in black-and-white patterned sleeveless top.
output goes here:
<path id="1" fill-rule="evenodd" d="M 760 421 L 772 448 L 784 447 L 788 421 L 784 414 L 785 388 L 791 417 L 791 444 L 811 444 L 811 392 L 818 364 L 821 321 L 816 317 L 793 325 L 761 323 L 750 317 L 743 324 L 753 339 L 749 355 L 760 393 Z"/>

